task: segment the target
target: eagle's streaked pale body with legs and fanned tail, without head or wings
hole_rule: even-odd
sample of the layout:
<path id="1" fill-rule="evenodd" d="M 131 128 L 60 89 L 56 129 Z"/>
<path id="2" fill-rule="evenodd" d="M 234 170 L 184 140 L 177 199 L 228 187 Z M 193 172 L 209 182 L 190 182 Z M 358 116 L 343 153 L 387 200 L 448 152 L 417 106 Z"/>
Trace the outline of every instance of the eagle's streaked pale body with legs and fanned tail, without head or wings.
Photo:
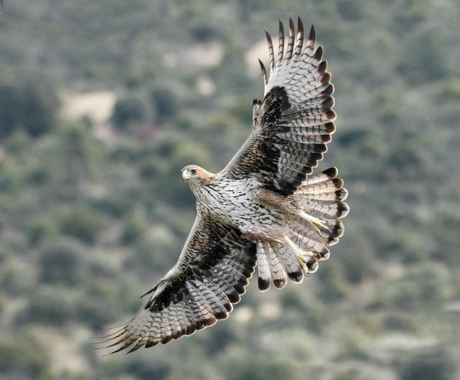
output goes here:
<path id="1" fill-rule="evenodd" d="M 257 244 L 259 288 L 271 281 L 281 289 L 287 278 L 302 282 L 329 258 L 327 246 L 343 234 L 339 220 L 348 213 L 347 192 L 337 169 L 319 173 L 302 182 L 291 195 L 265 189 L 255 178 L 228 180 L 213 177 L 201 187 L 191 187 L 197 211 L 203 216 L 238 228 Z"/>

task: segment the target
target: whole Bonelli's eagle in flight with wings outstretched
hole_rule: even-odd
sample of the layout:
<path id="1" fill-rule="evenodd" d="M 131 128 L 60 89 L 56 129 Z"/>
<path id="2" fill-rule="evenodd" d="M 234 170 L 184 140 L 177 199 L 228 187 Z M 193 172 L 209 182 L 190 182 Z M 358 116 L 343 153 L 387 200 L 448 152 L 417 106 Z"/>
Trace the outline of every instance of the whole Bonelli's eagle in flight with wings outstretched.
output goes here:
<path id="1" fill-rule="evenodd" d="M 150 298 L 105 342 L 116 351 L 167 344 L 225 319 L 257 266 L 259 289 L 302 282 L 329 258 L 344 233 L 347 192 L 337 169 L 307 177 L 335 132 L 323 49 L 314 27 L 304 41 L 292 19 L 277 57 L 270 34 L 270 71 L 254 100 L 252 132 L 229 164 L 213 174 L 185 166 L 182 177 L 197 198 L 197 219 L 178 262 L 144 295 Z M 114 352 L 116 352 L 114 351 Z"/>

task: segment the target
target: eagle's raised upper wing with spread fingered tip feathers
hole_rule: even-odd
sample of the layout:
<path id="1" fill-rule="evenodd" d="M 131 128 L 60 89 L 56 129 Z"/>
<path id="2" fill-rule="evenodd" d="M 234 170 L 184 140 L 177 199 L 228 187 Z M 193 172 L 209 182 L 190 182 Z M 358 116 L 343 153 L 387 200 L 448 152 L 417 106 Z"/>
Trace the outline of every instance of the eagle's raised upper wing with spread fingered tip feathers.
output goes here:
<path id="1" fill-rule="evenodd" d="M 284 52 L 284 29 L 279 20 L 277 61 L 270 34 L 270 73 L 261 63 L 265 91 L 254 100 L 252 133 L 224 168 L 229 178 L 257 177 L 267 188 L 290 195 L 296 191 L 327 150 L 325 143 L 335 132 L 332 111 L 334 87 L 330 83 L 323 49 L 315 50 L 314 27 L 305 47 L 303 26 L 298 32 L 289 21 L 289 40 Z"/>

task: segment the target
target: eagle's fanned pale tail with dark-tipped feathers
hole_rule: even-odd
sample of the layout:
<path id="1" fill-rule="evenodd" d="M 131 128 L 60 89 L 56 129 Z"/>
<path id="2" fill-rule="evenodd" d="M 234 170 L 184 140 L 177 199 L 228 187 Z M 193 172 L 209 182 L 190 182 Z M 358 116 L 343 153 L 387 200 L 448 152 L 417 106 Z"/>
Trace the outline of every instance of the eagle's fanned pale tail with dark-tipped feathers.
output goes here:
<path id="1" fill-rule="evenodd" d="M 348 192 L 337 168 L 307 178 L 291 197 L 301 211 L 293 217 L 286 235 L 286 244 L 258 242 L 259 289 L 268 290 L 270 283 L 277 289 L 287 278 L 300 283 L 304 275 L 318 269 L 319 260 L 327 260 L 328 246 L 339 242 L 344 234 L 340 218 L 348 214 L 344 203 Z"/>

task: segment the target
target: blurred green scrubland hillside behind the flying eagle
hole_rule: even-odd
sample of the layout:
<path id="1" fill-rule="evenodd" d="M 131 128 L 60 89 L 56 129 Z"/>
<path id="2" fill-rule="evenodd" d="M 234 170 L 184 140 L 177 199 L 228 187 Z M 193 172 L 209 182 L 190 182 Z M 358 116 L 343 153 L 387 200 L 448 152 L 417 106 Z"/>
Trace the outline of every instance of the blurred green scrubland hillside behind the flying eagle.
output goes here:
<path id="1" fill-rule="evenodd" d="M 250 132 L 263 27 L 314 23 L 346 233 L 300 285 L 125 356 L 194 220 L 180 169 Z M 1 379 L 460 379 L 458 0 L 15 0 L 0 16 Z"/>

